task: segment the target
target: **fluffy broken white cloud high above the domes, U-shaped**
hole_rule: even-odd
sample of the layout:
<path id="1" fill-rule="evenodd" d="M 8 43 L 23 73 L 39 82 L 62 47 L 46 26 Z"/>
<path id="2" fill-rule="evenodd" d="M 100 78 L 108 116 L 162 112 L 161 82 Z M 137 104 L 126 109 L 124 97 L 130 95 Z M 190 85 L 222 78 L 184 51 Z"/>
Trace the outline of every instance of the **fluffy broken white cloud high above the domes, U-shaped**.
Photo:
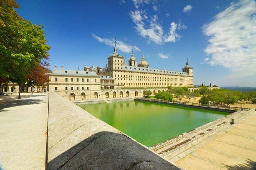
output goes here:
<path id="1" fill-rule="evenodd" d="M 135 30 L 143 38 L 147 38 L 148 43 L 153 42 L 156 44 L 163 44 L 165 42 L 176 42 L 176 40 L 181 38 L 181 36 L 176 33 L 177 24 L 175 22 L 171 23 L 170 32 L 168 32 L 168 34 L 164 34 L 163 27 L 158 22 L 157 15 L 153 15 L 151 19 L 147 20 L 147 17 L 145 17 L 145 11 L 136 10 L 130 11 L 130 17 L 136 25 L 134 27 Z M 182 25 L 180 28 L 182 28 Z"/>

